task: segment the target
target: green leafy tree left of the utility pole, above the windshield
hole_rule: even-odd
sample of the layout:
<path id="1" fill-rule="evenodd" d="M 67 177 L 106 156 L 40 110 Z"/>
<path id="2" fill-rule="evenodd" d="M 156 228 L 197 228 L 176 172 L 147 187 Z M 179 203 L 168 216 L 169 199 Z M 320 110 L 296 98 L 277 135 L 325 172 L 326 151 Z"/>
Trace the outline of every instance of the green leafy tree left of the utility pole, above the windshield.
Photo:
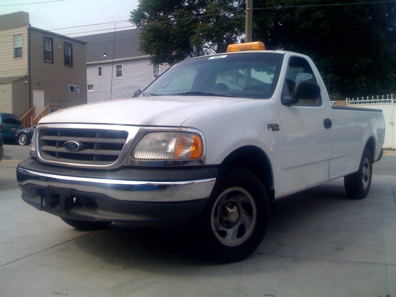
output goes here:
<path id="1" fill-rule="evenodd" d="M 154 64 L 225 51 L 245 28 L 242 2 L 139 0 L 130 22 L 141 28 L 140 49 Z"/>

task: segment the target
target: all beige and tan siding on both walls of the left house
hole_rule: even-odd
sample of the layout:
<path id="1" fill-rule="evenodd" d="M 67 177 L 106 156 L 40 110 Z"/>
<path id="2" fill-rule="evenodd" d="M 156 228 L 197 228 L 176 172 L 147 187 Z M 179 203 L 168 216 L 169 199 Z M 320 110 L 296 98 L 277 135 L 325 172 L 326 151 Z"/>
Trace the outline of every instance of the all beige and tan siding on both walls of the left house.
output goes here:
<path id="1" fill-rule="evenodd" d="M 22 35 L 21 58 L 14 58 L 16 35 Z M 53 63 L 44 60 L 45 37 L 53 40 Z M 71 66 L 64 62 L 65 43 L 72 46 Z M 44 106 L 87 103 L 85 47 L 77 39 L 31 27 L 27 12 L 0 15 L 0 111 L 22 116 L 33 106 L 33 90 L 44 92 Z M 79 86 L 79 93 L 70 93 L 69 85 Z"/>

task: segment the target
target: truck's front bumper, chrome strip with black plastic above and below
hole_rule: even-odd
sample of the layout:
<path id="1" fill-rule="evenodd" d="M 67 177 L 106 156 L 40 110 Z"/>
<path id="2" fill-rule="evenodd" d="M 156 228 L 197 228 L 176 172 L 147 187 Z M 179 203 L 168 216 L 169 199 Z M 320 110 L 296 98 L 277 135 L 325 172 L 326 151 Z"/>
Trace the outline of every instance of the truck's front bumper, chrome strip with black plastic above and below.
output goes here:
<path id="1" fill-rule="evenodd" d="M 22 199 L 39 210 L 79 220 L 160 225 L 197 216 L 217 175 L 215 168 L 151 171 L 78 171 L 26 159 L 19 163 L 16 174 Z M 144 180 L 145 174 L 151 179 Z M 166 176 L 168 181 L 164 181 Z"/>

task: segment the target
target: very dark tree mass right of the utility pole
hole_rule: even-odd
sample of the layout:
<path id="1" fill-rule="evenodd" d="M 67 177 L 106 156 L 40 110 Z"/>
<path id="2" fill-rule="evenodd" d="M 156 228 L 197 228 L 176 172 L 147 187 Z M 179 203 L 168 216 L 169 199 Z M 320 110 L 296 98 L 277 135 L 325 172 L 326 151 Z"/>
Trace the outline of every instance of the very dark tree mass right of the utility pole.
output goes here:
<path id="1" fill-rule="evenodd" d="M 267 49 L 309 55 L 330 92 L 356 96 L 392 91 L 396 3 L 343 2 L 255 0 L 259 9 L 253 14 L 253 36 Z"/>

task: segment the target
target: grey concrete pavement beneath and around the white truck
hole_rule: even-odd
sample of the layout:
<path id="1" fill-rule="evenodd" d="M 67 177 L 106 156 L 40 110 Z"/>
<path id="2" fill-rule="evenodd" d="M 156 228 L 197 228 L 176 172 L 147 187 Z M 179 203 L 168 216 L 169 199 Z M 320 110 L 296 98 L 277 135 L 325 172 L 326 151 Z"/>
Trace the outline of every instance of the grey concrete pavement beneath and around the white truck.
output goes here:
<path id="1" fill-rule="evenodd" d="M 396 152 L 374 164 L 363 200 L 343 180 L 281 198 L 246 260 L 201 257 L 192 230 L 112 224 L 81 232 L 20 198 L 18 160 L 0 161 L 1 297 L 396 297 Z"/>

